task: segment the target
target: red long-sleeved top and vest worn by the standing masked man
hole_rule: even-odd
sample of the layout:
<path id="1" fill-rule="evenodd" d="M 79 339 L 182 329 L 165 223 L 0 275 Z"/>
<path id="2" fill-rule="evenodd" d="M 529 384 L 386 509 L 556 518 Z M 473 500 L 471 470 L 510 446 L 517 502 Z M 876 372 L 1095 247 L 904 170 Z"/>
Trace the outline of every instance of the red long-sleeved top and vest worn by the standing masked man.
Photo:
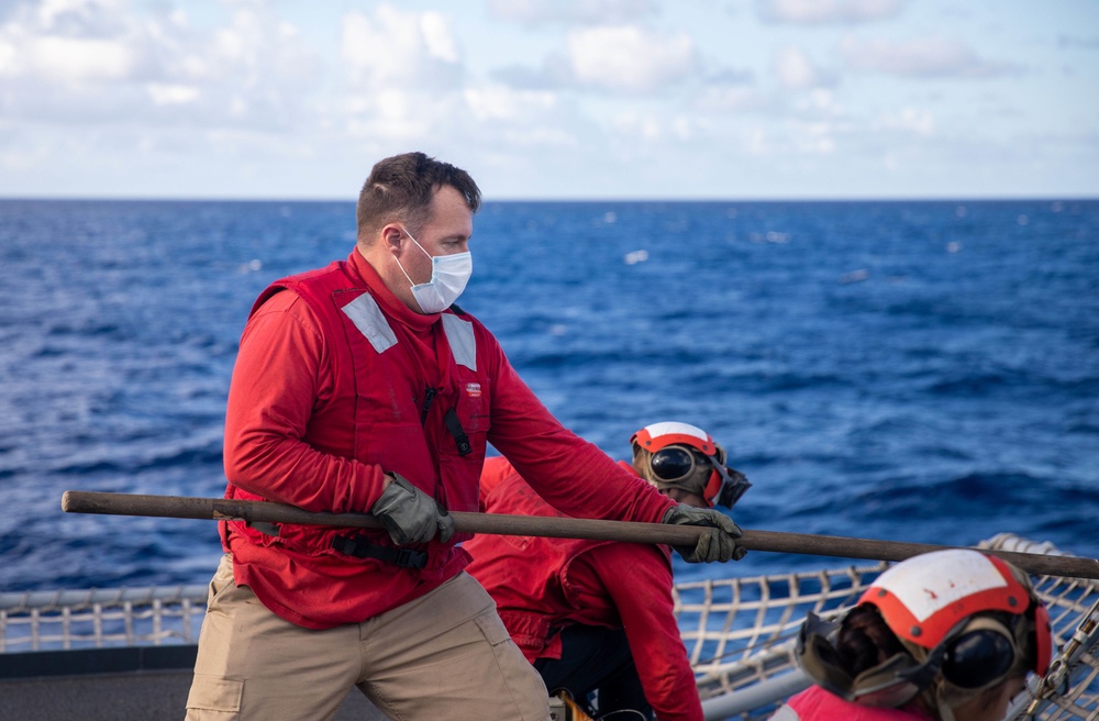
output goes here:
<path id="1" fill-rule="evenodd" d="M 435 389 L 423 413 L 428 389 Z M 444 415 L 454 410 L 468 448 Z M 311 511 L 370 509 L 392 470 L 455 511 L 477 508 L 486 443 L 543 495 L 577 515 L 657 521 L 671 502 L 564 429 L 476 319 L 423 315 L 401 303 L 353 251 L 275 282 L 253 307 L 229 392 L 226 498 Z M 622 503 L 623 498 L 632 499 Z M 454 544 L 418 546 L 422 569 L 332 548 L 360 531 L 282 524 L 267 535 L 223 524 L 235 576 L 278 615 L 312 629 L 359 622 L 454 577 L 468 556 Z M 389 544 L 384 532 L 373 543 Z"/>

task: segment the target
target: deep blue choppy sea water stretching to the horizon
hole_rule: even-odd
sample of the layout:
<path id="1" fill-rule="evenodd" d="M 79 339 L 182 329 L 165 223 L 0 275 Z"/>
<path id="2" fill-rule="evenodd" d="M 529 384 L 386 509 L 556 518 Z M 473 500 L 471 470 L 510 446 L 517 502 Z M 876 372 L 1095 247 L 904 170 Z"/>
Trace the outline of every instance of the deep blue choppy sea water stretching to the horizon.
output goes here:
<path id="1" fill-rule="evenodd" d="M 213 522 L 62 493 L 220 497 L 247 311 L 354 222 L 0 201 L 0 591 L 209 579 Z M 471 248 L 462 306 L 550 409 L 614 457 L 650 422 L 707 429 L 754 484 L 745 528 L 1099 557 L 1099 201 L 489 202 Z"/>

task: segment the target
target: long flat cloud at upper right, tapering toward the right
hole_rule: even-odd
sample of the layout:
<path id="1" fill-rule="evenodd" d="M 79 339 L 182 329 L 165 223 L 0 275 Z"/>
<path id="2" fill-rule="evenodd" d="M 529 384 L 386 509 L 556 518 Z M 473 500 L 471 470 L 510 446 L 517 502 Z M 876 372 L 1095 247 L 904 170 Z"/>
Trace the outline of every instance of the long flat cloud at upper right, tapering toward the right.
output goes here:
<path id="1" fill-rule="evenodd" d="M 943 37 L 924 37 L 904 43 L 845 37 L 840 56 L 847 68 L 922 78 L 993 77 L 1018 73 L 1007 63 L 977 57 L 963 43 Z"/>

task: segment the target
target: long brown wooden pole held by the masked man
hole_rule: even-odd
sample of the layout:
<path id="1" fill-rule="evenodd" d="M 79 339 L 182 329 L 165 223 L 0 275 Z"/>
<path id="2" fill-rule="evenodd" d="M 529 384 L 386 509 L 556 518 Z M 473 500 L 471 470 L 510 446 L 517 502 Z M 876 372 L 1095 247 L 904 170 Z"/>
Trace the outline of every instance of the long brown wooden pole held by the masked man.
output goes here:
<path id="1" fill-rule="evenodd" d="M 318 513 L 295 506 L 269 501 L 240 501 L 224 498 L 185 496 L 143 496 L 68 490 L 62 496 L 62 509 L 69 513 L 106 513 L 109 515 L 147 515 L 158 518 L 245 521 L 248 523 L 300 523 L 303 525 L 338 525 L 355 529 L 381 529 L 381 521 L 368 513 Z M 706 529 L 697 525 L 666 525 L 598 519 L 574 519 L 541 515 L 503 515 L 498 513 L 452 512 L 454 528 L 462 533 L 498 535 L 534 535 L 557 539 L 589 539 L 630 543 L 665 543 L 693 545 Z M 872 561 L 903 561 L 930 551 L 957 546 L 852 539 L 845 536 L 786 533 L 780 531 L 745 530 L 737 541 L 748 551 L 793 553 Z M 999 556 L 1029 574 L 1099 579 L 1099 559 L 1077 556 L 1054 556 L 981 548 Z"/>

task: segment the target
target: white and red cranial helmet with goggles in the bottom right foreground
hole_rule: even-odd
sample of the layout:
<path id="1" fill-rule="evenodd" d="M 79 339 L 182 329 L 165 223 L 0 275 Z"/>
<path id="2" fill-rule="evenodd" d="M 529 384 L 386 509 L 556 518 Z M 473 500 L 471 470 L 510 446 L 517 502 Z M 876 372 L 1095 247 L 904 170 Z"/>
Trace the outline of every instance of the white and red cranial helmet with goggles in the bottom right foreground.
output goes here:
<path id="1" fill-rule="evenodd" d="M 801 668 L 850 701 L 899 708 L 926 691 L 942 712 L 1010 676 L 1050 668 L 1050 614 L 1030 579 L 978 551 L 908 558 L 878 576 L 857 606 L 876 608 L 903 651 L 852 676 L 834 645 L 845 621 L 812 612 L 797 645 Z"/>

